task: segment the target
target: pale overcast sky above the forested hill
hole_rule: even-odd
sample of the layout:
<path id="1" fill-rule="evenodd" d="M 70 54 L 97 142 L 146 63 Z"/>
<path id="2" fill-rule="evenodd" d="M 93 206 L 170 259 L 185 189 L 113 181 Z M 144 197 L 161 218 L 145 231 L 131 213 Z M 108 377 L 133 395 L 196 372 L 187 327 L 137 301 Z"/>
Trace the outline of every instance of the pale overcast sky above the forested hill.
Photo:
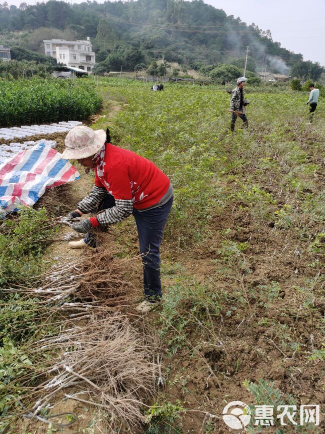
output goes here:
<path id="1" fill-rule="evenodd" d="M 19 6 L 23 0 L 7 0 L 8 5 Z M 83 0 L 72 0 L 82 3 Z M 247 25 L 255 23 L 260 29 L 269 29 L 273 41 L 280 42 L 303 60 L 325 66 L 325 0 L 203 0 L 227 15 L 239 17 Z M 4 0 L 0 0 L 4 3 Z M 26 0 L 34 5 L 35 0 Z M 98 3 L 103 3 L 98 1 Z"/>

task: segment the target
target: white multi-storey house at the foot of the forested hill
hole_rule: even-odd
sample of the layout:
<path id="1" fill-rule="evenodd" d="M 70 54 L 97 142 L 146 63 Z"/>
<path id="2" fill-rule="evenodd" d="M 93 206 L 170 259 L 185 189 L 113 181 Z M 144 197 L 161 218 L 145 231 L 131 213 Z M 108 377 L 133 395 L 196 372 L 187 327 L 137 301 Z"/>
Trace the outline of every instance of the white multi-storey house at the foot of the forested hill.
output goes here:
<path id="1" fill-rule="evenodd" d="M 64 41 L 63 39 L 43 40 L 45 55 L 56 59 L 67 67 L 91 72 L 95 64 L 90 38 L 87 41 Z"/>

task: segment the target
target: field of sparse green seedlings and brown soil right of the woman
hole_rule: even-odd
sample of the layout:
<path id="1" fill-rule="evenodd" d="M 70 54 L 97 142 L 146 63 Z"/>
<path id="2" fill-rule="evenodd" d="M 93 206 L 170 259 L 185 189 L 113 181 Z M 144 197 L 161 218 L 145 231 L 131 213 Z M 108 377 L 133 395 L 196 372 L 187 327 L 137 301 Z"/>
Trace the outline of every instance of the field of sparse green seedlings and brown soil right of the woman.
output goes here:
<path id="1" fill-rule="evenodd" d="M 251 92 L 249 129 L 238 120 L 230 134 L 229 96 L 214 89 L 111 93 L 129 104 L 114 140 L 155 161 L 175 188 L 157 321 L 167 393 L 152 425 L 221 434 L 226 425 L 206 413 L 220 417 L 232 400 L 253 416 L 254 404 L 275 414 L 281 403 L 323 402 L 324 109 L 310 126 L 307 94 Z M 205 416 L 193 422 L 184 407 Z M 274 419 L 275 432 L 323 429 Z"/>

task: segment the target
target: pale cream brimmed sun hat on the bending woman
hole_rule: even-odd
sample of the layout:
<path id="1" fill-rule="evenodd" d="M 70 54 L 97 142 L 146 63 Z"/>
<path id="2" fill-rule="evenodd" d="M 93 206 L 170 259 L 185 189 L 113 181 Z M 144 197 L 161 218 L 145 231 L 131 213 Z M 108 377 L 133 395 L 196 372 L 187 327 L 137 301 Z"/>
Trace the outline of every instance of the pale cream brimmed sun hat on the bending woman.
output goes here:
<path id="1" fill-rule="evenodd" d="M 67 160 L 91 157 L 101 149 L 106 141 L 104 130 L 92 130 L 89 127 L 74 127 L 65 137 L 65 150 L 62 158 Z"/>

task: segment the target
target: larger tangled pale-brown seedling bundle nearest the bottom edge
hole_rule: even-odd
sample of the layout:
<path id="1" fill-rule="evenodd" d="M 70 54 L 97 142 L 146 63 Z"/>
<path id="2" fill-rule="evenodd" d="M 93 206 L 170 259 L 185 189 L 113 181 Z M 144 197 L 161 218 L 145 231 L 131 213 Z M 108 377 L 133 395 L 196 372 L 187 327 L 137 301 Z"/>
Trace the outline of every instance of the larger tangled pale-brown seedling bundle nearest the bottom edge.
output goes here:
<path id="1" fill-rule="evenodd" d="M 36 352 L 58 355 L 47 364 L 46 381 L 34 388 L 30 411 L 39 414 L 58 394 L 100 407 L 111 430 L 134 428 L 144 422 L 143 406 L 154 395 L 157 342 L 120 312 L 89 316 L 83 325 L 66 324 L 58 337 L 36 342 Z"/>

